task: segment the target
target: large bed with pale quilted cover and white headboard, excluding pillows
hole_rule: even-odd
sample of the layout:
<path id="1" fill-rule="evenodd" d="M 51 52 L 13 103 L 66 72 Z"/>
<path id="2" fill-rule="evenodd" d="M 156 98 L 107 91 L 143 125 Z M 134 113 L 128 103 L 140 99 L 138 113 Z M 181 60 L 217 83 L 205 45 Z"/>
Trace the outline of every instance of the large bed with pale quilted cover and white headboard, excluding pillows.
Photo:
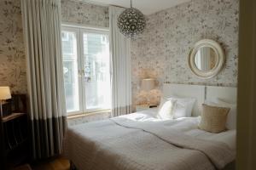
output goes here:
<path id="1" fill-rule="evenodd" d="M 211 170 L 235 161 L 236 129 L 208 133 L 198 123 L 208 95 L 234 99 L 236 88 L 165 84 L 164 92 L 196 98 L 193 116 L 160 120 L 151 109 L 69 127 L 64 155 L 79 170 Z"/>

